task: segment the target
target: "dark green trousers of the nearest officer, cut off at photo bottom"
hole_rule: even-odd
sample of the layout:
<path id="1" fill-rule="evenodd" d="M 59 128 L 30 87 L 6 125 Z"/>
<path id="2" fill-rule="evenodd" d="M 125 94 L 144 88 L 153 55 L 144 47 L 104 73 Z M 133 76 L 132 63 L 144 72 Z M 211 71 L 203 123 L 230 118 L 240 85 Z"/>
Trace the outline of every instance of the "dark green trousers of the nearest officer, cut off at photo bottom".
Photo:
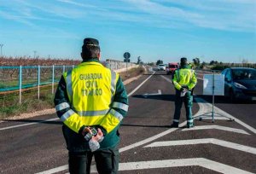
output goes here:
<path id="1" fill-rule="evenodd" d="M 70 174 L 89 174 L 92 156 L 96 161 L 99 174 L 116 174 L 119 170 L 119 150 L 108 148 L 96 150 L 94 153 L 69 152 L 68 166 Z"/>

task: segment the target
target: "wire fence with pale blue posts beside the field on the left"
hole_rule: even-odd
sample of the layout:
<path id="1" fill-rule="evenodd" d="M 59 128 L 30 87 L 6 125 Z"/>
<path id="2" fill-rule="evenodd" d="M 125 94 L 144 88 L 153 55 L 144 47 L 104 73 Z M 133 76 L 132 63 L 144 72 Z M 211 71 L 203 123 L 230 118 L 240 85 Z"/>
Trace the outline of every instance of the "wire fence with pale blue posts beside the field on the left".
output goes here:
<path id="1" fill-rule="evenodd" d="M 30 93 L 40 99 L 45 88 L 46 93 L 54 94 L 55 84 L 62 73 L 73 69 L 74 66 L 32 66 L 32 67 L 0 67 L 0 103 L 2 106 L 18 96 L 19 103 L 22 96 Z M 41 91 L 42 90 L 42 91 Z M 51 90 L 51 91 L 49 91 Z M 35 92 L 37 91 L 37 92 Z M 24 94 L 24 95 L 23 95 Z"/>

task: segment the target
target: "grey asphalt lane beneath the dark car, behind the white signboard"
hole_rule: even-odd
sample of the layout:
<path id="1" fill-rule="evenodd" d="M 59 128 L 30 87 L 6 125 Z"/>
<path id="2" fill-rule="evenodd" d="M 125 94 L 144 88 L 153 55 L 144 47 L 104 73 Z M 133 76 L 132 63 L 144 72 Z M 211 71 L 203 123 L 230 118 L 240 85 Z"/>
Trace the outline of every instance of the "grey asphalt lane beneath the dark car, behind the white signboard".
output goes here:
<path id="1" fill-rule="evenodd" d="M 212 103 L 212 96 L 204 96 L 203 94 L 203 80 L 198 79 L 198 83 L 195 86 L 195 97 L 201 97 L 209 103 Z M 230 113 L 237 119 L 245 122 L 247 125 L 256 127 L 256 102 L 240 101 L 236 103 L 230 102 L 228 97 L 214 96 L 214 106 L 224 110 L 226 113 Z M 212 112 L 209 111 L 209 112 Z"/>

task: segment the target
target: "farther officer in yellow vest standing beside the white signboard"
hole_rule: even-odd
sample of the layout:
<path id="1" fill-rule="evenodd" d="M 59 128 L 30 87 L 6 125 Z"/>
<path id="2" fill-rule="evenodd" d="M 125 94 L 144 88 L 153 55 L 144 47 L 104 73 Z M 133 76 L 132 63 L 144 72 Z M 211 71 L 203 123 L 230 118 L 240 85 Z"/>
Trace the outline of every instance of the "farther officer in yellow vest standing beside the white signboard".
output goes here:
<path id="1" fill-rule="evenodd" d="M 191 91 L 194 89 L 197 79 L 195 76 L 195 71 L 192 70 L 189 65 L 187 58 L 183 57 L 180 60 L 180 68 L 177 69 L 174 73 L 172 83 L 176 89 L 176 99 L 175 99 L 175 113 L 173 117 L 172 127 L 178 127 L 181 107 L 185 105 L 186 108 L 186 118 L 187 118 L 187 127 L 193 127 L 193 118 L 192 118 L 192 104 L 193 96 Z"/>

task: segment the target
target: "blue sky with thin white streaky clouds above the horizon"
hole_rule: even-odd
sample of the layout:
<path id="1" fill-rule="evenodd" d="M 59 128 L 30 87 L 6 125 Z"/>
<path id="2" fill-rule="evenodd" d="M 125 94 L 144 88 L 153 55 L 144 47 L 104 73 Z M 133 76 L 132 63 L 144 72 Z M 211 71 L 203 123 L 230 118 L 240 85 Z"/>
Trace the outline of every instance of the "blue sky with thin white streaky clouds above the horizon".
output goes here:
<path id="1" fill-rule="evenodd" d="M 5 56 L 80 59 L 97 38 L 102 60 L 256 63 L 256 0 L 0 0 Z"/>

